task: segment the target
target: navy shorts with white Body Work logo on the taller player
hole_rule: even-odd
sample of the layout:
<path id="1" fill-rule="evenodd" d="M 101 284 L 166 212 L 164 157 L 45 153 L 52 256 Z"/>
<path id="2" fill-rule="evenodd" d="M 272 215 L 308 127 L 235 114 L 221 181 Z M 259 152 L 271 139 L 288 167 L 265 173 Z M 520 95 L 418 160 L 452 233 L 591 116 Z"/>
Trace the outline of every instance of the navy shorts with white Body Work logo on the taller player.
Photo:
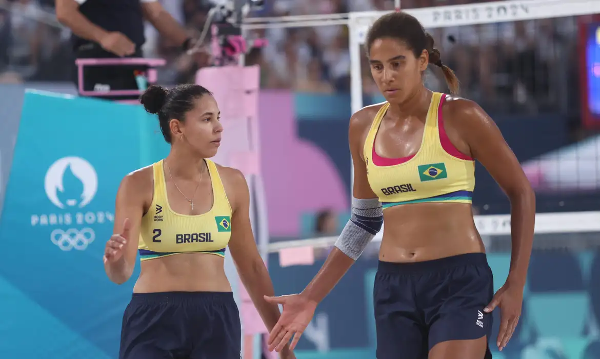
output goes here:
<path id="1" fill-rule="evenodd" d="M 494 280 L 485 253 L 380 261 L 373 295 L 377 359 L 422 359 L 437 343 L 490 338 L 493 319 L 483 310 Z"/>

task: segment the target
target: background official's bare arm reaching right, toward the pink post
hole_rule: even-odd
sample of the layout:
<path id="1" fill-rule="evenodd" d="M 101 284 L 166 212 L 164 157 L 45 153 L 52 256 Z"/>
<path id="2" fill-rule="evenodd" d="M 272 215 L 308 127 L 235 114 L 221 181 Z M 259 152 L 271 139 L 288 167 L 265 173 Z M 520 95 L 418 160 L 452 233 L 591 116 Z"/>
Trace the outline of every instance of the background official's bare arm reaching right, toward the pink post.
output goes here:
<path id="1" fill-rule="evenodd" d="M 71 0 L 73 1 L 73 0 Z M 173 41 L 177 46 L 188 47 L 186 44 L 188 34 L 184 27 L 181 26 L 169 11 L 164 10 L 163 5 L 158 0 L 140 0 L 142 1 L 142 11 L 146 20 L 154 26 L 161 35 Z"/>

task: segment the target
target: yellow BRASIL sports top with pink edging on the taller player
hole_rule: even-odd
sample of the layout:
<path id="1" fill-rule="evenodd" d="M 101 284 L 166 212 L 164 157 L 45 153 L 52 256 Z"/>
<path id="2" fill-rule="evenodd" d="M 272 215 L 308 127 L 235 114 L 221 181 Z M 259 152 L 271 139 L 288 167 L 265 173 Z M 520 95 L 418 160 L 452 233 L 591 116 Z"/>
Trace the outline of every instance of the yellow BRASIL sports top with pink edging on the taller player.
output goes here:
<path id="1" fill-rule="evenodd" d="M 383 158 L 375 152 L 379 125 L 388 110 L 383 104 L 364 146 L 367 177 L 383 208 L 422 202 L 471 203 L 475 189 L 475 161 L 462 154 L 443 127 L 446 95 L 434 92 L 425 119 L 421 147 L 415 155 Z"/>

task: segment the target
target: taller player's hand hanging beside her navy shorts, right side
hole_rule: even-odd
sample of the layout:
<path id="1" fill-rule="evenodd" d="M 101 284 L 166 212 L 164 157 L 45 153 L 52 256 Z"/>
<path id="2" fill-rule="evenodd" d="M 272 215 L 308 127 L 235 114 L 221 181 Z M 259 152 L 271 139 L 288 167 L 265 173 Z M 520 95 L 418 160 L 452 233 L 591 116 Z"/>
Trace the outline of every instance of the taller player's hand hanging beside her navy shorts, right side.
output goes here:
<path id="1" fill-rule="evenodd" d="M 498 349 L 502 351 L 517 328 L 523 306 L 523 288 L 506 282 L 498 289 L 490 304 L 485 307 L 485 313 L 491 313 L 496 307 L 500 308 L 500 331 L 496 340 Z"/>

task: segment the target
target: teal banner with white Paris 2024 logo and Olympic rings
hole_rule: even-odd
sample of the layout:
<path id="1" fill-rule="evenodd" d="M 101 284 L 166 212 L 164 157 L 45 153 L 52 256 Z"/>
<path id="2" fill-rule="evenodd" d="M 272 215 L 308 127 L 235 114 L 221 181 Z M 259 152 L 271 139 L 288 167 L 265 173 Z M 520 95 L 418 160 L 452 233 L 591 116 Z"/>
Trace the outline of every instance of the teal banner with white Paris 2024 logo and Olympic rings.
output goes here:
<path id="1" fill-rule="evenodd" d="M 0 219 L 1 358 L 116 358 L 134 283 L 103 270 L 116 190 L 168 149 L 140 106 L 26 92 Z"/>

